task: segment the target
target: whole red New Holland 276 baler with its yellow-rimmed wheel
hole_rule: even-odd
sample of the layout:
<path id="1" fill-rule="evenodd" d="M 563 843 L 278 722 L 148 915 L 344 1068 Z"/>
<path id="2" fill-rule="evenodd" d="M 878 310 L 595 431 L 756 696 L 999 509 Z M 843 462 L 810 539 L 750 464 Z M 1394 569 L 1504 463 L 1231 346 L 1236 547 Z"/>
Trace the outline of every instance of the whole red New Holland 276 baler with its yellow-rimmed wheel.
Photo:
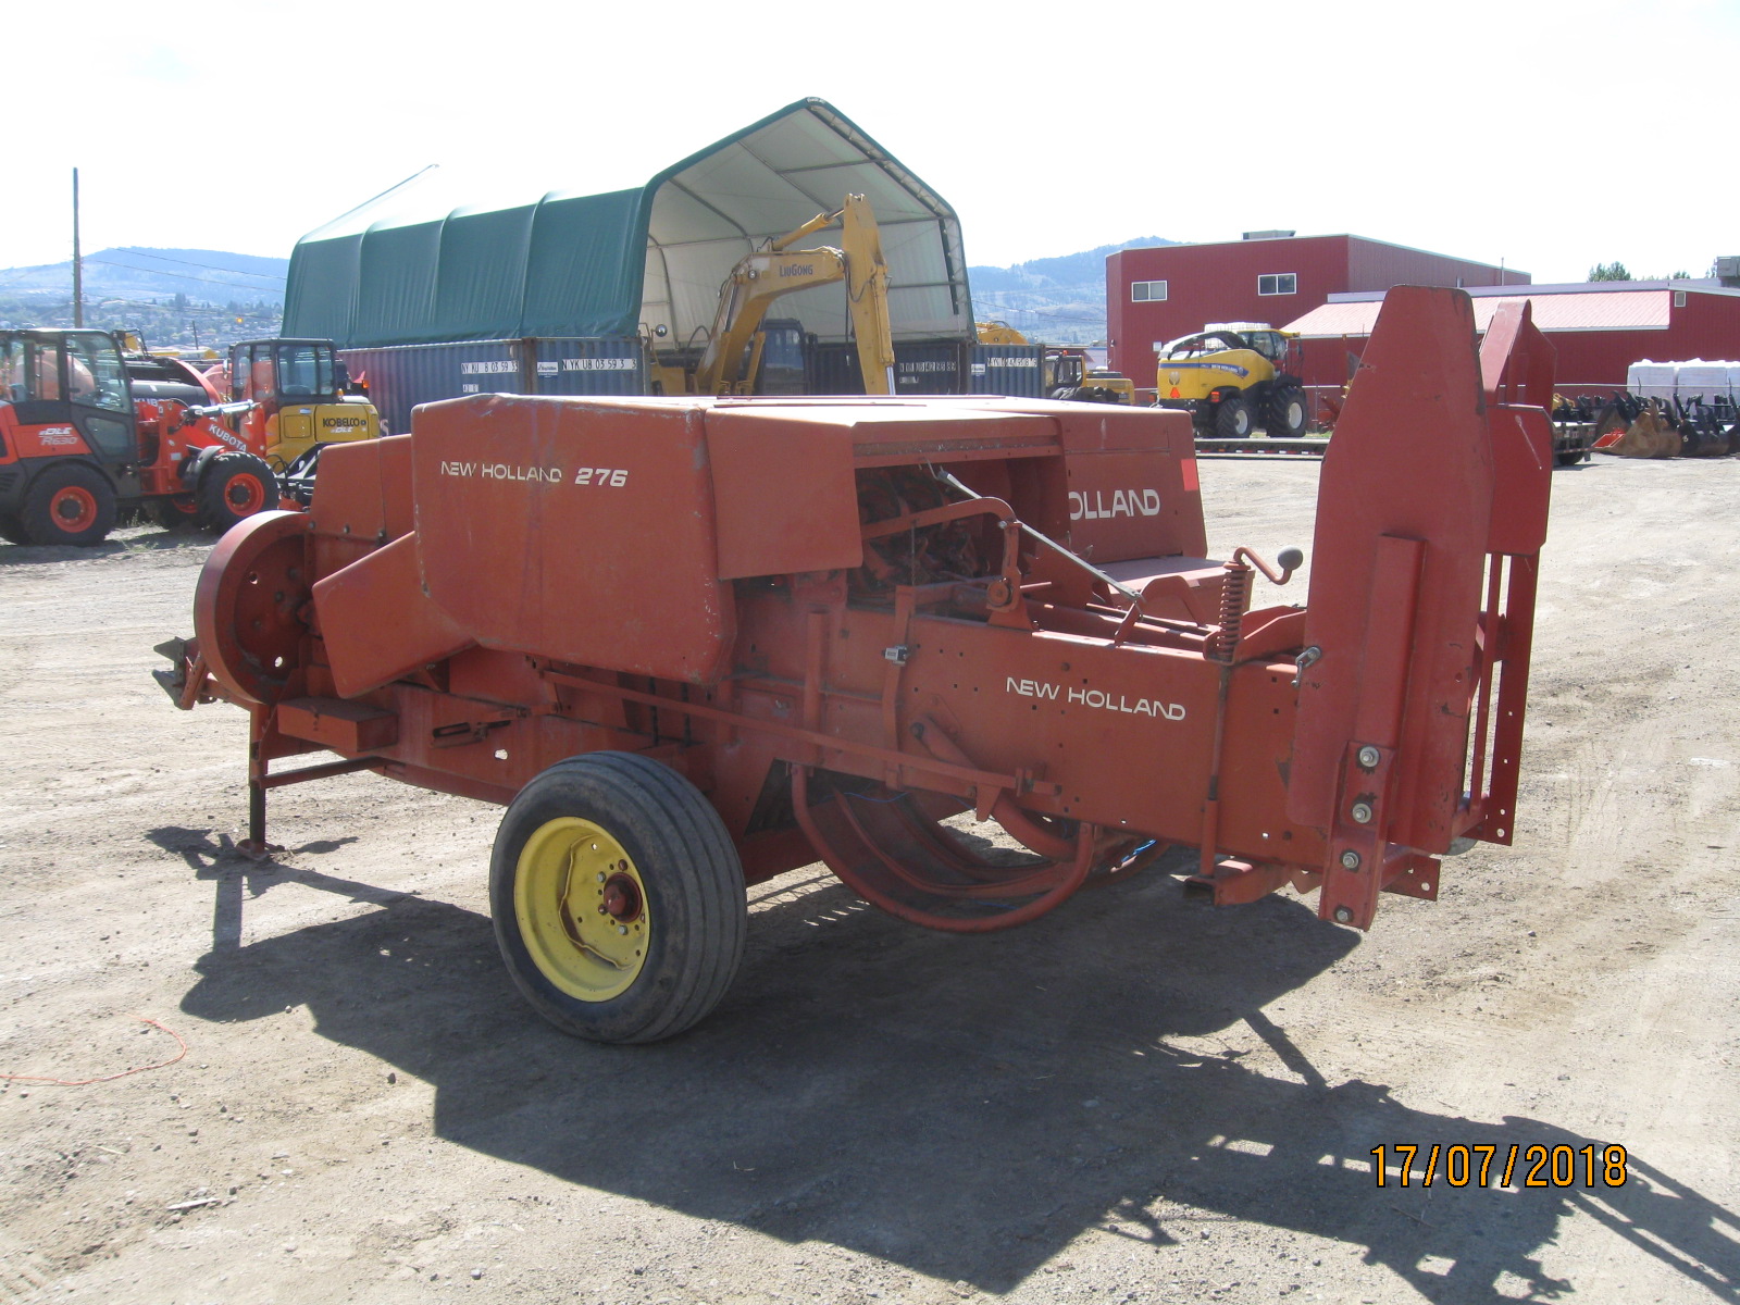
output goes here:
<path id="1" fill-rule="evenodd" d="M 1368 927 L 1514 833 L 1550 355 L 1526 315 L 1477 357 L 1465 294 L 1389 296 L 1305 607 L 1249 604 L 1298 557 L 1204 557 L 1181 412 L 430 404 L 218 545 L 160 679 L 249 710 L 256 851 L 268 790 L 345 771 L 505 804 L 503 957 L 583 1037 L 705 1016 L 745 884 L 818 858 L 983 933 L 1185 846 L 1218 903 L 1315 887 Z M 966 811 L 1030 854 L 974 854 Z"/>

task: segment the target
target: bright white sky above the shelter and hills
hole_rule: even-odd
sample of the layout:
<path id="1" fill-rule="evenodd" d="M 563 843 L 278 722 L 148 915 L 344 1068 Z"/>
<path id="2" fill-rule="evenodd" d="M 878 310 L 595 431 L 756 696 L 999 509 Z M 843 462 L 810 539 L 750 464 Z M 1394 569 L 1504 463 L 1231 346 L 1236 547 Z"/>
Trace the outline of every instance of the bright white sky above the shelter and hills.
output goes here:
<path id="1" fill-rule="evenodd" d="M 1540 284 L 1740 254 L 1740 0 L 231 0 L 198 24 L 90 0 L 7 24 L 44 125 L 9 151 L 0 266 L 70 258 L 73 167 L 87 252 L 287 258 L 430 164 L 492 195 L 618 190 L 806 96 L 943 195 L 974 264 L 1248 230 Z"/>

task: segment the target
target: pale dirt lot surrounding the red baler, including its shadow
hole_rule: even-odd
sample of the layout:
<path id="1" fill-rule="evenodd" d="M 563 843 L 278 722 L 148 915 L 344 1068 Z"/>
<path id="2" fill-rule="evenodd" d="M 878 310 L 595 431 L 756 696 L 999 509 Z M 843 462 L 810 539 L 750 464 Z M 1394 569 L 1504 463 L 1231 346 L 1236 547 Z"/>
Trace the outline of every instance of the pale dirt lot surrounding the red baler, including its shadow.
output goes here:
<path id="1" fill-rule="evenodd" d="M 1202 482 L 1220 555 L 1310 545 L 1314 465 Z M 1517 846 L 1442 901 L 1148 875 L 964 940 L 799 872 L 642 1049 L 513 994 L 491 807 L 348 776 L 233 854 L 244 719 L 148 677 L 202 545 L 0 546 L 0 1070 L 188 1044 L 3 1086 L 0 1300 L 1740 1298 L 1740 459 L 1554 498 Z M 1629 1181 L 1378 1188 L 1380 1143 Z"/>

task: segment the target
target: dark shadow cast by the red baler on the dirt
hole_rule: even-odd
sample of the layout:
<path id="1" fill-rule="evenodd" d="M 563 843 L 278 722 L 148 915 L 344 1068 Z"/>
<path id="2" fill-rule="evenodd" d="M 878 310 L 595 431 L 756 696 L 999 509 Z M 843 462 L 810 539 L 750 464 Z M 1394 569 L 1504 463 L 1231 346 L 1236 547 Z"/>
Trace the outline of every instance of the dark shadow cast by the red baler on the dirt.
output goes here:
<path id="1" fill-rule="evenodd" d="M 1740 1220 L 1636 1157 L 1622 1188 L 1376 1188 L 1380 1143 L 1599 1154 L 1610 1140 L 1326 1084 L 1263 1007 L 1357 940 L 1293 900 L 1213 910 L 1150 875 L 1025 929 L 955 938 L 887 919 L 826 875 L 781 880 L 757 889 L 743 973 L 706 1023 L 606 1047 L 520 1004 L 482 915 L 270 863 L 200 872 L 219 912 L 183 1011 L 252 1020 L 306 1004 L 322 1035 L 432 1082 L 438 1136 L 571 1183 L 995 1293 L 1094 1227 L 1147 1251 L 1136 1272 L 1164 1281 L 1169 1248 L 1220 1235 L 1220 1218 L 1202 1220 L 1213 1211 L 1362 1248 L 1434 1302 L 1559 1296 L 1576 1284 L 1540 1256 L 1580 1208 L 1735 1298 L 1714 1265 L 1731 1263 Z M 240 947 L 244 894 L 271 882 L 381 910 Z M 1168 1042 L 1239 1021 L 1293 1077 Z"/>

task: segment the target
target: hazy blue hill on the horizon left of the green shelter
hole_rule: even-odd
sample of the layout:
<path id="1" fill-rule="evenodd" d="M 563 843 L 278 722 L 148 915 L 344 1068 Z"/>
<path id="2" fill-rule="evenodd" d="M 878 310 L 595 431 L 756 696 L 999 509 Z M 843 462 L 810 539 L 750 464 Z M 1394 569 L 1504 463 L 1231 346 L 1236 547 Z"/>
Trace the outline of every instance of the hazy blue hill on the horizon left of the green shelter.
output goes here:
<path id="1" fill-rule="evenodd" d="M 216 249 L 99 249 L 84 256 L 85 303 L 101 299 L 160 303 L 184 296 L 184 304 L 282 304 L 291 261 Z M 0 296 L 68 299 L 73 264 L 47 263 L 0 271 Z"/>

